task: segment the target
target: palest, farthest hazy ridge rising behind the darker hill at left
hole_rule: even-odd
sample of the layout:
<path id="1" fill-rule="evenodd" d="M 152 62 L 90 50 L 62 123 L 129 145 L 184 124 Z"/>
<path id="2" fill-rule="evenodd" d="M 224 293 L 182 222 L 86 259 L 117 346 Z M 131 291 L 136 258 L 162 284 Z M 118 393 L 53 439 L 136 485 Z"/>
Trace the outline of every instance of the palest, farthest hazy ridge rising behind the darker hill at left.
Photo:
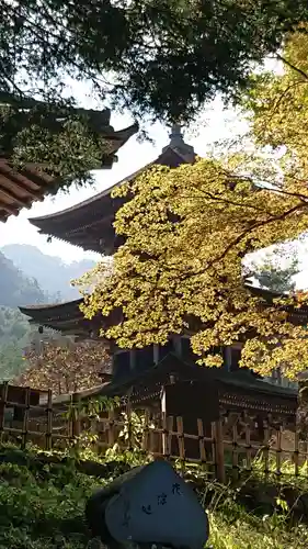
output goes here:
<path id="1" fill-rule="evenodd" d="M 3 246 L 1 251 L 26 277 L 37 280 L 49 302 L 77 299 L 80 294 L 76 288 L 70 287 L 70 281 L 81 277 L 95 265 L 91 260 L 66 265 L 59 257 L 47 256 L 35 246 L 24 244 Z"/>

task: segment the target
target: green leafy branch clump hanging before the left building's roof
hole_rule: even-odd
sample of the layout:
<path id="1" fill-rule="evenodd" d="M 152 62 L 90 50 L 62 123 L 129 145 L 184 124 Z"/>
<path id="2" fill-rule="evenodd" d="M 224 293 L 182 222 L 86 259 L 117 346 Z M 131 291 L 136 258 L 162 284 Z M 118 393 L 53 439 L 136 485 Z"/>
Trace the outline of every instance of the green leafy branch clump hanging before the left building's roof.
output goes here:
<path id="1" fill-rule="evenodd" d="M 50 91 L 50 90 L 48 90 Z M 53 90 L 52 90 L 53 91 Z M 91 181 L 90 171 L 101 169 L 111 155 L 102 131 L 105 112 L 77 109 L 72 100 L 44 94 L 43 102 L 16 100 L 8 96 L 1 105 L 0 149 L 16 169 L 36 164 L 53 179 L 48 193 L 67 191 Z"/>

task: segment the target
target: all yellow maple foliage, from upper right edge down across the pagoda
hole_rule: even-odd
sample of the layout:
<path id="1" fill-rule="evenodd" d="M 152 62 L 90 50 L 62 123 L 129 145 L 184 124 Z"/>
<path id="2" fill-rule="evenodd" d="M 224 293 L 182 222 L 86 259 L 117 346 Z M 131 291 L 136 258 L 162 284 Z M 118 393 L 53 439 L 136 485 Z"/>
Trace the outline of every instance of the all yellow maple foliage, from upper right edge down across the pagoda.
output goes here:
<path id="1" fill-rule="evenodd" d="M 308 228 L 308 35 L 300 31 L 285 44 L 283 74 L 253 77 L 244 103 L 252 153 L 156 167 L 115 191 L 127 198 L 115 221 L 125 244 L 112 270 L 105 261 L 96 268 L 100 282 L 83 311 L 102 312 L 102 335 L 119 346 L 186 332 L 208 366 L 218 365 L 213 348 L 240 340 L 241 365 L 263 374 L 280 366 L 293 378 L 307 368 L 307 332 L 284 312 L 295 296 L 265 306 L 242 269 L 248 254 Z M 304 304 L 307 294 L 298 294 L 296 306 Z"/>

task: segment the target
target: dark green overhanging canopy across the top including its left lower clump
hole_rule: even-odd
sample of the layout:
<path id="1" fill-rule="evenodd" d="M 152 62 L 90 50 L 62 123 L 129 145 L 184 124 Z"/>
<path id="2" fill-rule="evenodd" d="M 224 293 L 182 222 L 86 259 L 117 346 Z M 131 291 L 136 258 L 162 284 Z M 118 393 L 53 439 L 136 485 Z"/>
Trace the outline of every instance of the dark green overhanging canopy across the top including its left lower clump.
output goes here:
<path id="1" fill-rule="evenodd" d="M 237 100 L 251 65 L 307 21 L 306 4 L 1 0 L 2 154 L 18 168 L 43 165 L 55 178 L 50 192 L 82 186 L 109 147 L 91 116 L 75 110 L 71 82 L 88 82 L 98 104 L 135 117 L 187 122 L 217 92 Z"/>

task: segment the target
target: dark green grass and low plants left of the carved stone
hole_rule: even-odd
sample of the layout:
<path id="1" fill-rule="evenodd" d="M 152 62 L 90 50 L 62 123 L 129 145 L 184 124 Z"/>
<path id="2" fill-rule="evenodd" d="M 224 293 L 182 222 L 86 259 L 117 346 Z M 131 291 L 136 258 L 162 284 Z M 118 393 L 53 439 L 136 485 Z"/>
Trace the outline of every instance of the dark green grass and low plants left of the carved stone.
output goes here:
<path id="1" fill-rule="evenodd" d="M 0 547 L 84 548 L 84 502 L 102 481 L 70 467 L 0 466 Z"/>

